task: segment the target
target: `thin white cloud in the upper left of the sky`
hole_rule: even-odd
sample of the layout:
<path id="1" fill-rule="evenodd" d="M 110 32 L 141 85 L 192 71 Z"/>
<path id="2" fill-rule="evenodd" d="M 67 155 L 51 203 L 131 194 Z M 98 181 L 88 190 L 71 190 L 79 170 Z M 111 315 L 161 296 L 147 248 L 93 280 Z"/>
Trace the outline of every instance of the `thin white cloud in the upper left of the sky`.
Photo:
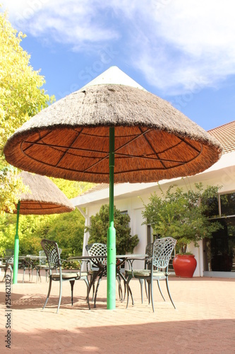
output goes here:
<path id="1" fill-rule="evenodd" d="M 56 42 L 78 48 L 83 47 L 86 42 L 95 44 L 119 38 L 115 30 L 99 22 L 96 0 L 2 2 L 8 10 L 11 23 L 18 30 L 35 37 L 47 36 Z"/>

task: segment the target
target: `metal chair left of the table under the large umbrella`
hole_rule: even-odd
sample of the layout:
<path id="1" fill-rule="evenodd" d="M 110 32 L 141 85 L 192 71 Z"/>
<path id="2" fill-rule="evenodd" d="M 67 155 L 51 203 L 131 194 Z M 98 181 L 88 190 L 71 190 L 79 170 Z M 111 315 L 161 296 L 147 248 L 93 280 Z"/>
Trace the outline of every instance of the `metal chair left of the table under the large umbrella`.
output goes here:
<path id="1" fill-rule="evenodd" d="M 73 306 L 73 285 L 75 280 L 84 280 L 85 284 L 87 285 L 87 301 L 88 301 L 88 307 L 90 309 L 90 303 L 89 303 L 89 282 L 88 282 L 88 272 L 82 272 L 81 268 L 78 272 L 70 272 L 70 273 L 63 273 L 61 265 L 64 261 L 60 258 L 60 253 L 58 249 L 58 245 L 56 244 L 55 241 L 50 241 L 47 239 L 43 239 L 41 241 L 42 249 L 44 250 L 45 255 L 47 256 L 47 262 L 49 265 L 49 290 L 47 293 L 47 299 L 44 303 L 44 307 L 46 307 L 49 295 L 52 289 L 52 281 L 59 281 L 60 282 L 60 287 L 59 287 L 59 302 L 58 302 L 58 307 L 57 307 L 57 313 L 59 312 L 59 307 L 61 304 L 61 296 L 62 296 L 62 282 L 65 280 L 68 280 L 71 284 L 71 304 Z M 52 270 L 57 270 L 59 269 L 59 273 L 52 273 Z M 44 307 L 42 309 L 44 309 Z"/>

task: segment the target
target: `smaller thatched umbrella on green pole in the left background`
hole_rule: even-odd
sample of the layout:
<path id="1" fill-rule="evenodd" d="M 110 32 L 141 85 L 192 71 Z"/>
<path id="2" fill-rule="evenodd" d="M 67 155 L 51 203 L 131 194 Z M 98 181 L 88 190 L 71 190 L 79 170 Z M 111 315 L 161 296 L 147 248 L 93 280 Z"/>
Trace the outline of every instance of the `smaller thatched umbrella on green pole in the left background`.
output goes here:
<path id="1" fill-rule="evenodd" d="M 68 200 L 66 195 L 45 176 L 35 175 L 22 171 L 20 177 L 27 192 L 22 193 L 16 205 L 16 236 L 14 246 L 14 264 L 13 264 L 13 284 L 17 283 L 18 276 L 18 256 L 19 256 L 19 236 L 18 223 L 19 216 L 22 215 L 47 215 L 60 214 L 62 212 L 71 212 L 75 208 Z M 8 212 L 8 210 L 6 210 Z"/>

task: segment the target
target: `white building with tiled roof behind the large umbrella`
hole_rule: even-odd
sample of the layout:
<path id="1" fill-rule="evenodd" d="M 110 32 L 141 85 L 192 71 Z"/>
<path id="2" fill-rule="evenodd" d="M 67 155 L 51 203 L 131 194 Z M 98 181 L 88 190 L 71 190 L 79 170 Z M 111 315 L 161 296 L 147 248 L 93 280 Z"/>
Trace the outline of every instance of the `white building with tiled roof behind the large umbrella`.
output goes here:
<path id="1" fill-rule="evenodd" d="M 186 178 L 164 180 L 159 184 L 163 190 L 173 183 L 183 188 L 195 182 L 202 182 L 204 186 L 222 186 L 219 190 L 219 220 L 224 225 L 224 229 L 217 232 L 212 239 L 200 241 L 199 248 L 190 245 L 189 251 L 193 252 L 198 263 L 194 276 L 235 278 L 235 121 L 210 130 L 209 133 L 214 135 L 224 147 L 221 159 L 203 173 Z M 134 253 L 145 253 L 146 244 L 152 241 L 150 227 L 143 225 L 142 211 L 143 201 L 147 203 L 150 194 L 157 190 L 157 183 L 122 183 L 114 186 L 114 204 L 119 210 L 128 212 L 131 217 L 131 232 L 133 235 L 138 234 L 140 239 Z M 88 225 L 90 217 L 100 210 L 101 205 L 109 203 L 109 185 L 96 185 L 88 193 L 71 201 L 82 212 L 85 225 Z M 82 210 L 84 207 L 85 213 Z M 85 233 L 83 254 L 85 254 L 88 238 L 89 234 Z"/>

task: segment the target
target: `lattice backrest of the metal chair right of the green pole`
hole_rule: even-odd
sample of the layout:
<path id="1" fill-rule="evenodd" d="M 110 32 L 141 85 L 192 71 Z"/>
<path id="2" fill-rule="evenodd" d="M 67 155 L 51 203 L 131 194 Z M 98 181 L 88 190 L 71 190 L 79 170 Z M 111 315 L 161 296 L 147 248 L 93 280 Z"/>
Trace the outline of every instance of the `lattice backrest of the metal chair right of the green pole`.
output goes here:
<path id="1" fill-rule="evenodd" d="M 176 240 L 172 237 L 156 239 L 152 244 L 152 265 L 159 270 L 167 270 L 171 253 L 176 246 Z"/>

